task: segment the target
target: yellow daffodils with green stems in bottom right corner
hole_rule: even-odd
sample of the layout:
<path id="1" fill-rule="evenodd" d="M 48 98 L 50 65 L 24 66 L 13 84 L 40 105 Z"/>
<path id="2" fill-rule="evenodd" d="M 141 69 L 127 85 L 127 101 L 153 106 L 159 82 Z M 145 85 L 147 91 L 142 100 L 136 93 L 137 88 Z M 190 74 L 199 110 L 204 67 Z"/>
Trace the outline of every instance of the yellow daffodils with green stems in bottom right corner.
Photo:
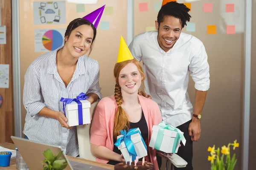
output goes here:
<path id="1" fill-rule="evenodd" d="M 226 147 L 215 149 L 215 145 L 213 147 L 208 147 L 208 151 L 211 156 L 208 156 L 208 161 L 211 161 L 211 170 L 234 170 L 236 166 L 236 154 L 234 153 L 232 158 L 230 157 L 230 146 L 233 146 L 233 150 L 236 147 L 239 147 L 239 143 L 235 140 L 234 143 L 229 143 Z M 221 156 L 220 156 L 221 152 Z"/>

